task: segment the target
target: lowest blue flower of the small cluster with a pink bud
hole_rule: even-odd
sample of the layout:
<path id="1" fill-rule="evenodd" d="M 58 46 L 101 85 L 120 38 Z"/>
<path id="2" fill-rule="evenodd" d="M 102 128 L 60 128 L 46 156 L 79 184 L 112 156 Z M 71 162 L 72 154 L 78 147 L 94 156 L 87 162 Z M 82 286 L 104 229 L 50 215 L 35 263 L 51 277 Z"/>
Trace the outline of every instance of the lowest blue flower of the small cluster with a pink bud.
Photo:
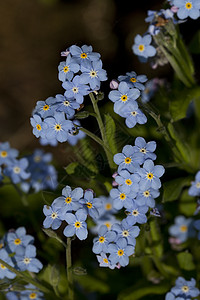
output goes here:
<path id="1" fill-rule="evenodd" d="M 126 103 L 119 112 L 119 115 L 126 118 L 125 123 L 128 128 L 133 128 L 137 123 L 145 124 L 147 122 L 147 117 L 138 108 L 137 102 Z"/>

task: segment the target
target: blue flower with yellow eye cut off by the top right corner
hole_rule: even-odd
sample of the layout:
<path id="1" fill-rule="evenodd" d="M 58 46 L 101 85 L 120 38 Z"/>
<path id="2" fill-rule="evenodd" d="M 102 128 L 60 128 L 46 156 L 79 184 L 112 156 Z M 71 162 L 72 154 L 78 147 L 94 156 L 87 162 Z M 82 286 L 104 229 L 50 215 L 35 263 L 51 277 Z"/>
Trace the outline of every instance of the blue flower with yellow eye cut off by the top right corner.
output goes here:
<path id="1" fill-rule="evenodd" d="M 199 18 L 199 0 L 174 0 L 173 4 L 179 8 L 177 11 L 177 16 L 179 17 L 179 19 L 190 17 L 195 20 Z"/>

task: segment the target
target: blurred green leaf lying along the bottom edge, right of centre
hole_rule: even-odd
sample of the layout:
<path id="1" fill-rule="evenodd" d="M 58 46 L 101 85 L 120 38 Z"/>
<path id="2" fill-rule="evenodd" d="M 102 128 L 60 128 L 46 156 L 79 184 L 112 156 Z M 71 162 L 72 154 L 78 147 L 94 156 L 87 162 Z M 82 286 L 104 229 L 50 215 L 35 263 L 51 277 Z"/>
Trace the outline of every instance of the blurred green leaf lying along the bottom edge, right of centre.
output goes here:
<path id="1" fill-rule="evenodd" d="M 145 282 L 141 282 L 141 287 L 136 288 L 135 286 L 122 292 L 119 297 L 117 298 L 118 300 L 138 300 L 141 299 L 142 297 L 146 295 L 163 295 L 167 291 L 169 291 L 170 287 L 168 284 L 157 284 L 157 285 L 149 285 Z M 163 297 L 162 297 L 163 299 Z"/>

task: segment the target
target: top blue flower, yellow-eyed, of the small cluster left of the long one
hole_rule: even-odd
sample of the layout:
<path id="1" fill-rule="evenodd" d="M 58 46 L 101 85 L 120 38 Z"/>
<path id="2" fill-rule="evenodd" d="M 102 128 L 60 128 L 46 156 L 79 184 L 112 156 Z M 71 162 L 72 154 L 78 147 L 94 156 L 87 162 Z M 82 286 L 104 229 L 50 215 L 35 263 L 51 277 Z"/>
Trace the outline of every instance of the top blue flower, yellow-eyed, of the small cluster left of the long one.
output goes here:
<path id="1" fill-rule="evenodd" d="M 64 218 L 66 212 L 72 210 L 76 211 L 81 207 L 79 200 L 82 197 L 83 197 L 83 189 L 80 187 L 72 190 L 71 187 L 67 185 L 62 190 L 62 196 L 56 198 L 53 201 L 54 206 L 60 209 L 61 219 Z"/>

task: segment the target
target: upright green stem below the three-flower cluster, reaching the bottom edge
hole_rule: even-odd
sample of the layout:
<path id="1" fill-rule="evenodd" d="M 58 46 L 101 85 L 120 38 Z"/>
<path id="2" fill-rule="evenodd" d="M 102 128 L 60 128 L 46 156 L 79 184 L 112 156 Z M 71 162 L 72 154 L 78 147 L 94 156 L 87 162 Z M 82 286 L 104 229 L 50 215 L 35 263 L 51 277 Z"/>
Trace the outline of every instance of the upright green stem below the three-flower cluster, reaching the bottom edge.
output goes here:
<path id="1" fill-rule="evenodd" d="M 72 274 L 72 257 L 71 257 L 71 238 L 67 238 L 66 248 L 66 263 L 67 263 L 67 280 L 68 280 L 68 299 L 74 299 L 73 289 L 73 274 Z"/>

